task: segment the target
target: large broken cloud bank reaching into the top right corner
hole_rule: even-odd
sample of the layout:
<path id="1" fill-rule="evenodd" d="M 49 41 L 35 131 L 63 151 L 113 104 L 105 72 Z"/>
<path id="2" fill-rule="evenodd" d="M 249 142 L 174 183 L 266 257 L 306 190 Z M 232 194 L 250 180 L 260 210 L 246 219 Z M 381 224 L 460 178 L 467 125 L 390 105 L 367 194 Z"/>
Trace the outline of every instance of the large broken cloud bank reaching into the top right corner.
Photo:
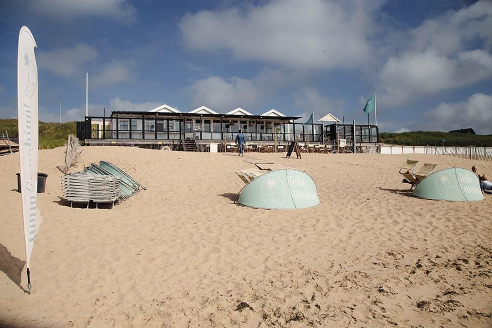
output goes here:
<path id="1" fill-rule="evenodd" d="M 492 2 L 480 1 L 425 21 L 400 37 L 408 46 L 382 66 L 377 89 L 385 106 L 492 77 Z"/>

